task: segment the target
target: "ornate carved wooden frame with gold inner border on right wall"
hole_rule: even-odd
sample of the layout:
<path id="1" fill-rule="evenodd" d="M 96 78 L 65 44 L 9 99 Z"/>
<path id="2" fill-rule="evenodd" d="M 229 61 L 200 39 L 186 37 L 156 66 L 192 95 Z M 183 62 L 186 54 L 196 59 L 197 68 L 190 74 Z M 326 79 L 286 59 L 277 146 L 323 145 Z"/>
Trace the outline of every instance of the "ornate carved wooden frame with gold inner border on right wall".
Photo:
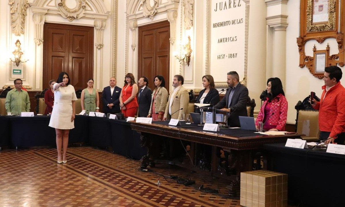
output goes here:
<path id="1" fill-rule="evenodd" d="M 329 0 L 328 1 L 328 21 L 313 22 L 313 7 L 316 0 L 300 0 L 300 25 L 299 37 L 297 38 L 299 52 L 299 67 L 307 67 L 309 71 L 317 78 L 323 78 L 323 73 L 315 73 L 315 46 L 314 57 L 305 55 L 305 44 L 309 40 L 316 40 L 323 43 L 327 38 L 334 38 L 338 43 L 338 53 L 332 56 L 326 56 L 326 65 L 345 65 L 344 55 L 344 25 L 345 25 L 345 1 Z M 340 5 L 339 5 L 340 3 Z M 327 45 L 327 48 L 328 45 Z M 328 51 L 329 52 L 329 51 Z M 327 67 L 326 66 L 326 67 Z"/>

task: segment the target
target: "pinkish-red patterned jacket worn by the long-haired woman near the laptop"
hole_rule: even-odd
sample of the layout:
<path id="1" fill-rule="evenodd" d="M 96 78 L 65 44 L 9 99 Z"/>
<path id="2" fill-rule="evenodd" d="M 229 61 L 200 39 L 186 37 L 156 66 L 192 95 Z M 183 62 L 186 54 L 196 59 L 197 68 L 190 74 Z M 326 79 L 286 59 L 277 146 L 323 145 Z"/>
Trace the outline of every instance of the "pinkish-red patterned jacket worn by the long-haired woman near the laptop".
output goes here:
<path id="1" fill-rule="evenodd" d="M 278 100 L 279 98 L 279 100 Z M 264 109 L 268 102 L 268 98 L 264 101 L 264 104 L 262 105 L 260 112 L 258 114 L 258 117 L 256 118 L 255 125 L 258 125 L 258 121 L 264 120 Z M 273 114 L 274 113 L 274 114 Z M 268 123 L 269 125 L 276 125 L 276 129 L 279 131 L 285 130 L 286 125 L 286 119 L 287 119 L 287 100 L 283 94 L 279 94 L 274 99 L 272 99 L 272 105 L 271 110 L 269 111 L 269 118 Z"/>

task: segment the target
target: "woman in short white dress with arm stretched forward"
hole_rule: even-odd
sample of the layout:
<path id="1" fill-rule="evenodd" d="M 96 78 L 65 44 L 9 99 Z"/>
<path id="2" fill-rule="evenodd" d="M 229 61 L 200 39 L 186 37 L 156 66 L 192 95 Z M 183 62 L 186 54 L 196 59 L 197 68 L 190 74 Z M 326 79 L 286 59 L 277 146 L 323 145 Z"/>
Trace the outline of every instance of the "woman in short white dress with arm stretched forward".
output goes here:
<path id="1" fill-rule="evenodd" d="M 49 126 L 55 128 L 56 148 L 58 150 L 58 164 L 67 163 L 66 153 L 69 130 L 74 128 L 76 114 L 76 91 L 69 85 L 70 79 L 66 72 L 59 74 L 54 84 L 54 107 Z M 62 148 L 62 155 L 61 155 Z"/>

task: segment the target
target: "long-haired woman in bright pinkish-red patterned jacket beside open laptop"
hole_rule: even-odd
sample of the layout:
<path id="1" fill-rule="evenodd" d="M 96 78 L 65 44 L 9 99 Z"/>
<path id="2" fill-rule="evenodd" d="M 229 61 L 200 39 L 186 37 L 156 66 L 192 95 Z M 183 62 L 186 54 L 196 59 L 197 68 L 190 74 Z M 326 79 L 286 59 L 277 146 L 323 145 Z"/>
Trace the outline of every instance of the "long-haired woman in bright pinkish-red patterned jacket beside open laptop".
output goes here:
<path id="1" fill-rule="evenodd" d="M 269 78 L 266 86 L 266 100 L 264 101 L 255 126 L 263 122 L 264 130 L 284 131 L 287 118 L 287 100 L 283 90 L 282 81 L 279 78 Z"/>

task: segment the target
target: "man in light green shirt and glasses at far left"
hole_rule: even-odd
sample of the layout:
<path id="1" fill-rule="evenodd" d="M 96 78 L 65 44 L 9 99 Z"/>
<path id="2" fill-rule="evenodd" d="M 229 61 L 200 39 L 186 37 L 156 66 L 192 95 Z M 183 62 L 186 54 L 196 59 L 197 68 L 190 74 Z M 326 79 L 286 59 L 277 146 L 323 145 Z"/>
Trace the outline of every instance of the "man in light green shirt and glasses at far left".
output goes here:
<path id="1" fill-rule="evenodd" d="M 29 112 L 30 99 L 28 92 L 22 90 L 23 81 L 18 78 L 13 82 L 14 88 L 7 93 L 5 101 L 7 113 L 11 112 L 12 115 L 19 115 L 20 112 Z"/>

